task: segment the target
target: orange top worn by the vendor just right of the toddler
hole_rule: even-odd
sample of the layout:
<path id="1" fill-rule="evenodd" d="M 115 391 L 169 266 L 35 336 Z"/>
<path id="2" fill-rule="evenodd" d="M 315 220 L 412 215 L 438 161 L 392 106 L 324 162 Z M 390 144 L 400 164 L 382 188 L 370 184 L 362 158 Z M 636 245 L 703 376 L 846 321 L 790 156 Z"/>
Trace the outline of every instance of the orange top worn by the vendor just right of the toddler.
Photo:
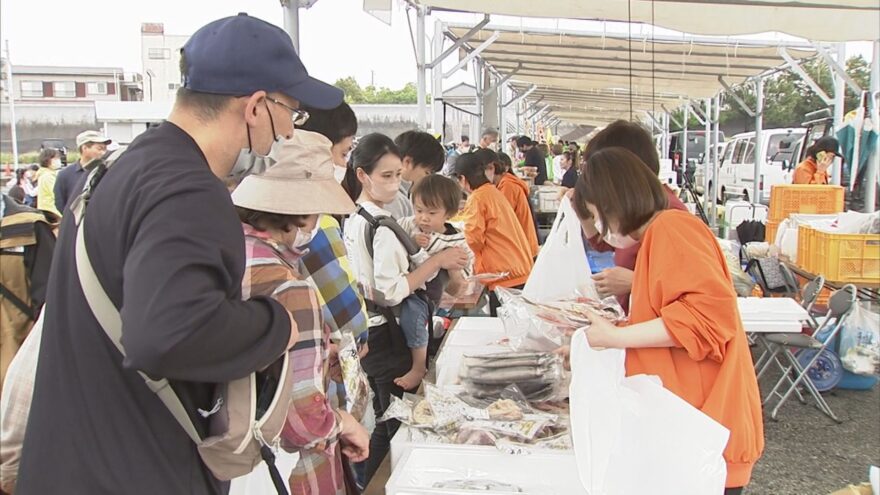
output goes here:
<path id="1" fill-rule="evenodd" d="M 462 217 L 464 236 L 475 256 L 474 272 L 510 273 L 487 284 L 489 289 L 526 283 L 534 261 L 526 235 L 501 192 L 489 183 L 478 187 L 468 197 Z"/>

